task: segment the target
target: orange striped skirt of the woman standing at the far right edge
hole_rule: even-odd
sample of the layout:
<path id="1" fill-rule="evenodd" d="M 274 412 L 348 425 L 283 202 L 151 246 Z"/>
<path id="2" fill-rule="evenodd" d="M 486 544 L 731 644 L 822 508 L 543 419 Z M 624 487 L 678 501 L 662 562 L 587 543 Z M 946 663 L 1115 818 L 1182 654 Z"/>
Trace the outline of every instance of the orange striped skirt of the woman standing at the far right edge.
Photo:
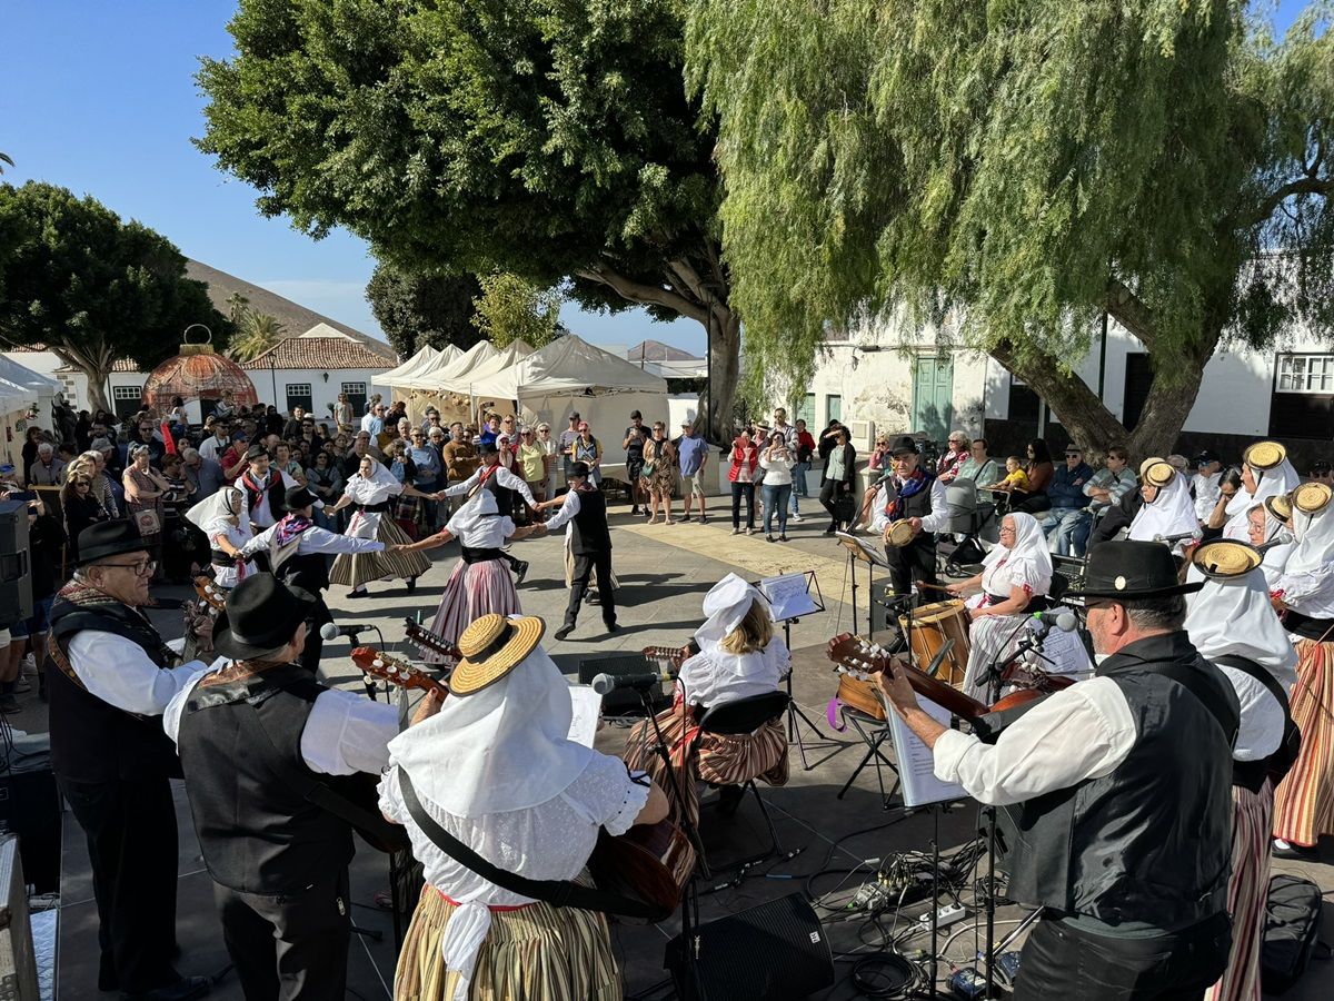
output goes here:
<path id="1" fill-rule="evenodd" d="M 1293 722 L 1302 751 L 1274 793 L 1274 837 L 1310 848 L 1334 834 L 1334 642 L 1297 642 Z"/>

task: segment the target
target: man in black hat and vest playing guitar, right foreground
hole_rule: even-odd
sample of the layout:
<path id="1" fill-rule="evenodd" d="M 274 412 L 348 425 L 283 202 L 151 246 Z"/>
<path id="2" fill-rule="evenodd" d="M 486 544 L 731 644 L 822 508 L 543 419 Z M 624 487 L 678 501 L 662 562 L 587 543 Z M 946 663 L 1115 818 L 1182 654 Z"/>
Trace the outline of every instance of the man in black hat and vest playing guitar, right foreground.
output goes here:
<path id="1" fill-rule="evenodd" d="M 880 689 L 938 778 L 1007 807 L 1009 896 L 1043 908 L 1017 1001 L 1198 998 L 1231 941 L 1238 699 L 1182 629 L 1201 585 L 1177 582 L 1166 546 L 1106 542 L 1085 579 L 1067 597 L 1105 657 L 1097 677 L 1031 703 L 994 745 L 924 713 L 900 665 Z"/>

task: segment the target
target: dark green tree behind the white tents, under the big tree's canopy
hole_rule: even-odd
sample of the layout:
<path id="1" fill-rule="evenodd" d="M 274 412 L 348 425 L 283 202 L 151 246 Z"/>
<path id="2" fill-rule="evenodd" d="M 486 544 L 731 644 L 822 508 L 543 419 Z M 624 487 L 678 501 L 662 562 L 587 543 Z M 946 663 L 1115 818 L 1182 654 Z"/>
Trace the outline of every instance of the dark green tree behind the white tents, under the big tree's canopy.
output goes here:
<path id="1" fill-rule="evenodd" d="M 472 300 L 482 294 L 474 275 L 423 275 L 392 264 L 375 266 L 366 299 L 399 358 L 430 344 L 467 350 L 482 339 Z"/>

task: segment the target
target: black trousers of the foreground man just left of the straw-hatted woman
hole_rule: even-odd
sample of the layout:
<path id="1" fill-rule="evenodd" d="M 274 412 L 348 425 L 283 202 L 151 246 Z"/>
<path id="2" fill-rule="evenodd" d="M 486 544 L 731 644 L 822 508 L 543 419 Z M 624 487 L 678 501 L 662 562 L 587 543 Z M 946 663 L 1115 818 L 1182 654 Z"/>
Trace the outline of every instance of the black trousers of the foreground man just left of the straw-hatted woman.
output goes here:
<path id="1" fill-rule="evenodd" d="M 213 884 L 223 941 L 245 1001 L 327 1001 L 347 990 L 352 902 L 347 868 L 292 894 Z"/>

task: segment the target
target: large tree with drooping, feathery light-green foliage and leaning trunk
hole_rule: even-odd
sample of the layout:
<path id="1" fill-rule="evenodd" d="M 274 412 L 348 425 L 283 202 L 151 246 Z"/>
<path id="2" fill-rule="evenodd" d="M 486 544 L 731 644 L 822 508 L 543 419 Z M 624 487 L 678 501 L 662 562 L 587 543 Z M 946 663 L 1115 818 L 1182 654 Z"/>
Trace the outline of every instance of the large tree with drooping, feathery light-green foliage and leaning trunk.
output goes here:
<path id="1" fill-rule="evenodd" d="M 1242 0 L 699 0 L 732 303 L 803 384 L 859 310 L 942 322 L 1077 440 L 1177 438 L 1205 363 L 1329 330 L 1331 40 Z M 1070 364 L 1102 311 L 1154 372 L 1127 434 Z"/>

